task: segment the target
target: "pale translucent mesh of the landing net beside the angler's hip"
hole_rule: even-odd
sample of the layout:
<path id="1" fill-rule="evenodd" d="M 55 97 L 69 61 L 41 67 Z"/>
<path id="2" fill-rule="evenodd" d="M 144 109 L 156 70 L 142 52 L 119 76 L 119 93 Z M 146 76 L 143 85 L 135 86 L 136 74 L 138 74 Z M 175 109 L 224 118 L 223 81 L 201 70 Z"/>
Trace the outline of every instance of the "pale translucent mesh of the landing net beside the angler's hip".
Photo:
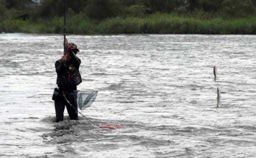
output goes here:
<path id="1" fill-rule="evenodd" d="M 89 107 L 97 97 L 98 91 L 77 91 L 77 105 L 83 110 Z"/>

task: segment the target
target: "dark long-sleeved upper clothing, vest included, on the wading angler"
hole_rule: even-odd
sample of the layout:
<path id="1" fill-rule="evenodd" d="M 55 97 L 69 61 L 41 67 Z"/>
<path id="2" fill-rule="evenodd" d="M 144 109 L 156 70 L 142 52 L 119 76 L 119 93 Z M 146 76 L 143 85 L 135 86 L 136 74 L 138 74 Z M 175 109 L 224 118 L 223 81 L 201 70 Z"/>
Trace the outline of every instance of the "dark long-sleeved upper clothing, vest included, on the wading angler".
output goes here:
<path id="1" fill-rule="evenodd" d="M 65 63 L 61 59 L 55 62 L 57 84 L 64 91 L 77 90 L 77 85 L 82 82 L 79 72 L 81 60 L 70 50 L 70 59 Z"/>

